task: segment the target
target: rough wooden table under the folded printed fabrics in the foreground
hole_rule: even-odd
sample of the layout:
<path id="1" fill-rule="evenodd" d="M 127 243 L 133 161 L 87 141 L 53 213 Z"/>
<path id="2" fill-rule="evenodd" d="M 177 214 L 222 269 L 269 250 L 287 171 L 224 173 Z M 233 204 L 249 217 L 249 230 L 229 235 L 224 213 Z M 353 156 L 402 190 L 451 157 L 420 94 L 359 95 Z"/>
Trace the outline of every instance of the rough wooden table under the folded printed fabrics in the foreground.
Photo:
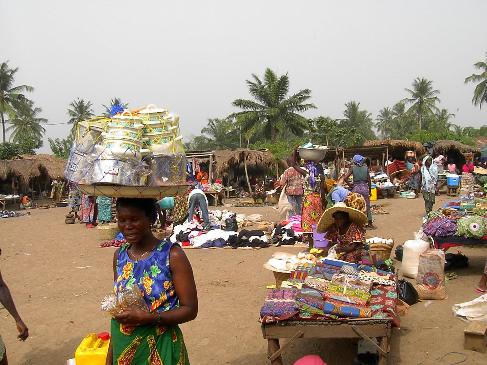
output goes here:
<path id="1" fill-rule="evenodd" d="M 297 321 L 285 320 L 262 324 L 262 334 L 267 339 L 267 357 L 271 365 L 282 365 L 282 352 L 297 338 L 363 338 L 377 349 L 379 365 L 387 365 L 391 348 L 393 319 L 363 318 L 349 320 Z M 377 337 L 375 344 L 371 337 Z M 280 338 L 289 338 L 281 347 Z"/>

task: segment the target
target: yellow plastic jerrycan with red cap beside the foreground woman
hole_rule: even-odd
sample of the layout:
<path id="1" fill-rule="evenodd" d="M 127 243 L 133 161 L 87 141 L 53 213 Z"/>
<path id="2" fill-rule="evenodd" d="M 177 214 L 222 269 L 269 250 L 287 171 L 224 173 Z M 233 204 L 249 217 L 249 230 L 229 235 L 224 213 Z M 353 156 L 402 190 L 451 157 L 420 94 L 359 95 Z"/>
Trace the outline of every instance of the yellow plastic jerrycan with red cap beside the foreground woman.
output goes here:
<path id="1" fill-rule="evenodd" d="M 105 365 L 110 334 L 90 333 L 81 341 L 75 353 L 76 365 Z"/>

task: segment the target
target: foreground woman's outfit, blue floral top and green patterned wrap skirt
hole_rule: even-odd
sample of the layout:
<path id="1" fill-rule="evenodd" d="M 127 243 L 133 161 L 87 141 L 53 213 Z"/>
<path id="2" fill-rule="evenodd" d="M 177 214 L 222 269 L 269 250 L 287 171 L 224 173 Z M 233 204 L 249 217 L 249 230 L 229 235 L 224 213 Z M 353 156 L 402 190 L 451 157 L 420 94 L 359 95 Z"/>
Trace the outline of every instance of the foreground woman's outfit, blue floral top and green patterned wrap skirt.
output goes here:
<path id="1" fill-rule="evenodd" d="M 131 260 L 123 245 L 117 256 L 117 279 L 113 291 L 137 285 L 151 312 L 179 307 L 169 270 L 172 242 L 161 241 L 152 254 L 143 260 Z M 183 335 L 178 326 L 164 324 L 126 326 L 112 320 L 114 364 L 189 364 Z M 136 350 L 136 351 L 135 351 Z"/>

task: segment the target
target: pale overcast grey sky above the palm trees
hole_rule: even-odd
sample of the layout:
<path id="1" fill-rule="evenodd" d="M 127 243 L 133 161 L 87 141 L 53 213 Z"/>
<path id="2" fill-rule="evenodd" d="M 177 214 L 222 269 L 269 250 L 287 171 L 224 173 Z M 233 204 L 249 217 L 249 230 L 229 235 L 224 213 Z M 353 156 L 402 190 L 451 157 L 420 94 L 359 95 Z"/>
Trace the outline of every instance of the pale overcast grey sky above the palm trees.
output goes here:
<path id="1" fill-rule="evenodd" d="M 487 1 L 24 1 L 0 2 L 0 61 L 50 123 L 75 98 L 96 114 L 112 97 L 180 115 L 182 134 L 223 118 L 245 80 L 270 67 L 289 72 L 291 92 L 309 88 L 318 110 L 339 118 L 349 100 L 372 112 L 407 96 L 415 77 L 433 80 L 453 123 L 487 124 L 465 77 L 485 60 Z M 458 110 L 457 110 L 458 109 Z M 64 138 L 70 127 L 46 126 Z"/>

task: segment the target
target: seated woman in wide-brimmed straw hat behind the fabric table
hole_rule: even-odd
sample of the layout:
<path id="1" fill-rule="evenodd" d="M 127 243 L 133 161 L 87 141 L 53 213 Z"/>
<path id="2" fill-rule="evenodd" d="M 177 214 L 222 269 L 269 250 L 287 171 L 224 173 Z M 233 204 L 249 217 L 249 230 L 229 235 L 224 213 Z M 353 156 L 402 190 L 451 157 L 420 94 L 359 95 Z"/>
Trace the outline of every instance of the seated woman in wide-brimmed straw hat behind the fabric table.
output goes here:
<path id="1" fill-rule="evenodd" d="M 357 264 L 367 255 L 362 249 L 367 216 L 361 211 L 348 207 L 343 202 L 336 203 L 325 210 L 318 222 L 317 232 L 327 232 L 325 238 L 330 241 L 325 253 L 335 245 L 337 254 L 343 254 L 340 260 Z"/>

